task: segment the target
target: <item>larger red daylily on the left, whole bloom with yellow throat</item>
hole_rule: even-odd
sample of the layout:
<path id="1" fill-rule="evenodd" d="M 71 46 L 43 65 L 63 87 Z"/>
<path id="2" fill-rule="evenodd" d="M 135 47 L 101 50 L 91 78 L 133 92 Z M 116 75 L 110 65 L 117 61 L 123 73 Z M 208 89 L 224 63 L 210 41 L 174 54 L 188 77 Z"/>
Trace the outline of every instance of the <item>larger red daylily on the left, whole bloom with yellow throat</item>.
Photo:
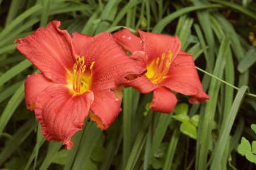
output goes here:
<path id="1" fill-rule="evenodd" d="M 108 32 L 96 36 L 71 36 L 60 30 L 60 22 L 17 39 L 16 48 L 35 64 L 42 74 L 28 76 L 25 82 L 27 109 L 35 110 L 47 140 L 63 141 L 73 147 L 72 136 L 90 117 L 102 130 L 122 110 L 120 99 L 111 90 L 121 80 L 133 80 L 146 72 L 115 43 Z"/>

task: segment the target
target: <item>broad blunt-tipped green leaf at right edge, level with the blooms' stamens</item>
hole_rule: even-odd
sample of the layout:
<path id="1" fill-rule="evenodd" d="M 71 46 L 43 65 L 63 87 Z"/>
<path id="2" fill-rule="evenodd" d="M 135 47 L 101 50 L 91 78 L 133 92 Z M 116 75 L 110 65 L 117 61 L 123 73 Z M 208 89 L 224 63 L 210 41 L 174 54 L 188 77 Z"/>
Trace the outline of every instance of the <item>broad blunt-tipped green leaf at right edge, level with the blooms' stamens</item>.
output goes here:
<path id="1" fill-rule="evenodd" d="M 247 71 L 256 61 L 256 48 L 251 45 L 250 49 L 245 53 L 245 56 L 239 62 L 237 69 L 240 73 Z"/>

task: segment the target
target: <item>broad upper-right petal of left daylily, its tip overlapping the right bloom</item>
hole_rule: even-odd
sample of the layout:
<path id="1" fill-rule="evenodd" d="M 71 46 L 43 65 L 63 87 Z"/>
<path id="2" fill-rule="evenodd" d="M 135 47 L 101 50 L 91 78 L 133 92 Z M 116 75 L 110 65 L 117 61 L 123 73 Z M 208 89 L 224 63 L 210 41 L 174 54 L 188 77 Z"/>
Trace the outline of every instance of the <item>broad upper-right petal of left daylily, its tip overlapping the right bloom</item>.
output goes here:
<path id="1" fill-rule="evenodd" d="M 131 59 L 115 43 L 109 32 L 102 32 L 90 39 L 82 48 L 80 55 L 85 56 L 86 72 L 90 73 L 90 65 L 95 62 L 89 87 L 93 92 L 117 89 L 123 77 L 131 74 L 127 78 L 133 80 L 142 76 L 147 70 Z"/>

